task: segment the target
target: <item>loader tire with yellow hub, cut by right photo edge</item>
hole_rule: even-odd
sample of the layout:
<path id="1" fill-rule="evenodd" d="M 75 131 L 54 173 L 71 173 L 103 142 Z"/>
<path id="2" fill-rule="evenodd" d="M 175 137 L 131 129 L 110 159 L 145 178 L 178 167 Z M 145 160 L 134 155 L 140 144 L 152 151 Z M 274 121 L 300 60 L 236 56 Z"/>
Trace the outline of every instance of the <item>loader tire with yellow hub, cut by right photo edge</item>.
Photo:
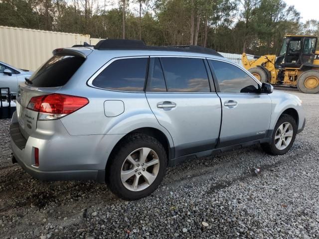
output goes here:
<path id="1" fill-rule="evenodd" d="M 309 70 L 301 74 L 297 82 L 298 89 L 307 94 L 319 92 L 319 71 Z"/>

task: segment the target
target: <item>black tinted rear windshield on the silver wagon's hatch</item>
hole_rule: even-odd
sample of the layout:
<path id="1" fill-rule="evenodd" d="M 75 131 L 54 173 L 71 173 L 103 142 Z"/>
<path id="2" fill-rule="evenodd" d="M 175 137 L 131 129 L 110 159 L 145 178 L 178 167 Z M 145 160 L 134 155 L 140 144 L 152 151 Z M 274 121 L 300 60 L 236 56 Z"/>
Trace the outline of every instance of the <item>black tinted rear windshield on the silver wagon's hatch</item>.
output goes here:
<path id="1" fill-rule="evenodd" d="M 79 69 L 85 58 L 55 55 L 42 65 L 29 79 L 34 87 L 64 86 Z"/>

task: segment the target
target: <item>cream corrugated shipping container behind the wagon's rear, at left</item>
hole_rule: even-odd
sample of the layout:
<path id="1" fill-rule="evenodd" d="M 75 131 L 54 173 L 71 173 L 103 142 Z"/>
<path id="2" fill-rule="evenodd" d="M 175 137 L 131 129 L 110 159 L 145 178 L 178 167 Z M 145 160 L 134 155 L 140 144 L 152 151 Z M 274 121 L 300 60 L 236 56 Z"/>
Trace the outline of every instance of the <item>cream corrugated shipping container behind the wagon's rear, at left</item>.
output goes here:
<path id="1" fill-rule="evenodd" d="M 0 61 L 34 71 L 56 48 L 90 42 L 90 35 L 0 26 Z"/>

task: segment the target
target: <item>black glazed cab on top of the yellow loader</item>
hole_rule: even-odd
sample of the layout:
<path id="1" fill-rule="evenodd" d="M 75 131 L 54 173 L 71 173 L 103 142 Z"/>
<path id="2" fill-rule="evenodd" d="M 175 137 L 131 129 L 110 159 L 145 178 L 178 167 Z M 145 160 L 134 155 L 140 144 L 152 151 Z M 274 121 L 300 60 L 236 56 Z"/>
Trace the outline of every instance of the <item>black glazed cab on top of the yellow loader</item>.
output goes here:
<path id="1" fill-rule="evenodd" d="M 285 36 L 275 67 L 300 68 L 302 65 L 312 65 L 316 46 L 315 36 Z"/>

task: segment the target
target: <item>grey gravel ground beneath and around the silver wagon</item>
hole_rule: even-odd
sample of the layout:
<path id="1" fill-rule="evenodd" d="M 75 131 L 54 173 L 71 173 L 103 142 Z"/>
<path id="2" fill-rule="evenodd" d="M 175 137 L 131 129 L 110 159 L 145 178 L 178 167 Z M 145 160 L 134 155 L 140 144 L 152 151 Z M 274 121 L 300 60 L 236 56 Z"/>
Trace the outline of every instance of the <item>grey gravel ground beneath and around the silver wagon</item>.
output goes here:
<path id="1" fill-rule="evenodd" d="M 190 160 L 134 202 L 104 184 L 32 179 L 11 164 L 0 120 L 0 238 L 319 238 L 319 95 L 286 91 L 307 115 L 286 155 L 253 146 Z"/>

